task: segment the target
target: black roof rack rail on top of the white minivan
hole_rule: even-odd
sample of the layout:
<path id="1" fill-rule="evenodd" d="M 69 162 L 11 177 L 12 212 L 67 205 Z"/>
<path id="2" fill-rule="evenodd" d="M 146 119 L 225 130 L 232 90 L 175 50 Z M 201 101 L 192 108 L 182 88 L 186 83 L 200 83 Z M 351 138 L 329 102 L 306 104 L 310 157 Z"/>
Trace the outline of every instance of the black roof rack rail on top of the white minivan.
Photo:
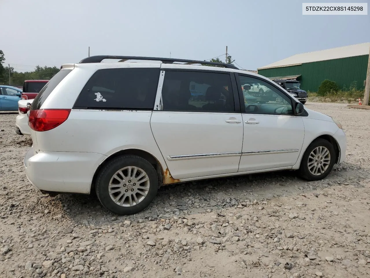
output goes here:
<path id="1" fill-rule="evenodd" d="M 139 56 L 97 55 L 97 56 L 90 56 L 85 59 L 82 59 L 80 63 L 100 63 L 104 59 L 120 59 L 119 62 L 125 62 L 127 60 L 153 60 L 153 61 L 161 61 L 162 63 L 165 63 L 165 64 L 172 64 L 174 62 L 182 62 L 185 64 L 211 64 L 211 65 L 216 65 L 216 66 L 223 66 L 228 69 L 238 69 L 236 66 L 233 66 L 232 64 L 226 64 L 226 63 L 185 60 L 185 59 L 172 59 L 172 58 L 159 58 L 159 57 L 139 57 Z"/>

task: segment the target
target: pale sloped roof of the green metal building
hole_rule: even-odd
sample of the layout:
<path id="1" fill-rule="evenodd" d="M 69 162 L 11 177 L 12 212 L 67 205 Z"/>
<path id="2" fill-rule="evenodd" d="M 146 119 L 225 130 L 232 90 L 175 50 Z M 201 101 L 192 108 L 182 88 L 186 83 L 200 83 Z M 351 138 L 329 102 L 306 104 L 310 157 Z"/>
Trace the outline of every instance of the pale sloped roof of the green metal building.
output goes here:
<path id="1" fill-rule="evenodd" d="M 335 47 L 325 50 L 295 54 L 283 60 L 268 64 L 259 69 L 269 69 L 272 67 L 294 66 L 303 63 L 311 63 L 325 60 L 340 59 L 353 56 L 368 55 L 370 43 L 359 43 L 349 46 Z"/>

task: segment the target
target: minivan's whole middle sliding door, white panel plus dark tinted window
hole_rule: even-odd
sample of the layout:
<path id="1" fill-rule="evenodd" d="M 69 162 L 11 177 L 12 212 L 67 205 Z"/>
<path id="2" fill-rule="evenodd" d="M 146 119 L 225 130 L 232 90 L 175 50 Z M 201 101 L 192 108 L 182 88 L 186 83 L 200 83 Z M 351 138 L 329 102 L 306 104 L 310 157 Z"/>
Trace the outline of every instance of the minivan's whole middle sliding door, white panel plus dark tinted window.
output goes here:
<path id="1" fill-rule="evenodd" d="M 229 72 L 164 69 L 161 105 L 152 113 L 151 128 L 173 178 L 238 172 L 243 119 L 235 101 L 235 77 Z"/>

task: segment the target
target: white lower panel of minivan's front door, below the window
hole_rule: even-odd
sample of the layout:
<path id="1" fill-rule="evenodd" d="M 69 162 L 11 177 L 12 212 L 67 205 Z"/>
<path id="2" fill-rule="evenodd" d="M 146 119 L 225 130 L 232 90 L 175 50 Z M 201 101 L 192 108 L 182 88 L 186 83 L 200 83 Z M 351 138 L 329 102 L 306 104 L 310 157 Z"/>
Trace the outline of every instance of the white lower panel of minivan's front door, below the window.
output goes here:
<path id="1" fill-rule="evenodd" d="M 295 165 L 305 137 L 302 118 L 304 117 L 243 114 L 243 155 L 239 172 Z M 248 120 L 259 123 L 245 123 Z"/>

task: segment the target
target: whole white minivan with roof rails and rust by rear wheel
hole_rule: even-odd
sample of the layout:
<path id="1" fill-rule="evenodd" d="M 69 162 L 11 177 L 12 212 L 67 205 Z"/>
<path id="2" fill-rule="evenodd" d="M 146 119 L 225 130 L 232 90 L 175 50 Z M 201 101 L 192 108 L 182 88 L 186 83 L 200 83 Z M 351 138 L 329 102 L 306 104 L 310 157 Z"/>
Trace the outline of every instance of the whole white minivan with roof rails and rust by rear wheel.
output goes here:
<path id="1" fill-rule="evenodd" d="M 251 83 L 285 103 L 244 103 L 242 84 Z M 192 87 L 204 101 L 190 100 Z M 50 195 L 95 191 L 120 215 L 143 210 L 170 183 L 279 170 L 317 181 L 346 153 L 337 120 L 266 77 L 204 61 L 64 64 L 34 99 L 29 124 L 30 182 Z"/>

